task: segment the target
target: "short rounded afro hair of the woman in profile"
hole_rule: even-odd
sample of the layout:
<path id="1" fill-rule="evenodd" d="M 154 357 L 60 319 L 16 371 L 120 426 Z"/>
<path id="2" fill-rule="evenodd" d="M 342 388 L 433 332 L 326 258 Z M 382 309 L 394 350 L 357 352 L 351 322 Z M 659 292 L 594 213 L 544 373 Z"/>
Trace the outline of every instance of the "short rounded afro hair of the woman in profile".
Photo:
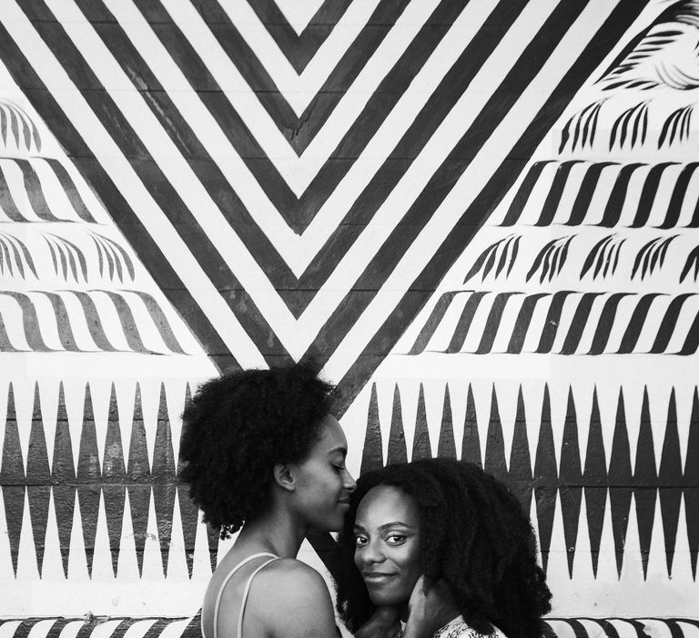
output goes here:
<path id="1" fill-rule="evenodd" d="M 182 415 L 179 477 L 221 539 L 264 509 L 276 464 L 308 457 L 333 389 L 310 364 L 242 370 L 199 387 Z"/>

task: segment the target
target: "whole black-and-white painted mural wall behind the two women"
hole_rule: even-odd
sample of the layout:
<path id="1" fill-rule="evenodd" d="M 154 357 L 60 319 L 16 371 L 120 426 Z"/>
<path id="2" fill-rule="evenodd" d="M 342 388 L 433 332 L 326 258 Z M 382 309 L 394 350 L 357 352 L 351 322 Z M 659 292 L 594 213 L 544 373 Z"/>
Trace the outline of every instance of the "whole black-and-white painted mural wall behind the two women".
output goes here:
<path id="1" fill-rule="evenodd" d="M 0 638 L 197 635 L 183 406 L 308 356 L 552 633 L 699 636 L 697 100 L 694 0 L 2 0 Z"/>

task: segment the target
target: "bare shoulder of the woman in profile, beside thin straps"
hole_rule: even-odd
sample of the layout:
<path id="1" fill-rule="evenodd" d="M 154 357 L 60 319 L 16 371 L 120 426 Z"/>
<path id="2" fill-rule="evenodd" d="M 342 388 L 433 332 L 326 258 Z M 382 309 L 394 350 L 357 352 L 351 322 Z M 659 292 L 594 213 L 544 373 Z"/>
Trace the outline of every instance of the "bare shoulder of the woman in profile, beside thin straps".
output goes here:
<path id="1" fill-rule="evenodd" d="M 251 615 L 264 617 L 268 635 L 337 635 L 328 585 L 304 562 L 279 559 L 268 564 L 255 577 L 248 605 Z"/>

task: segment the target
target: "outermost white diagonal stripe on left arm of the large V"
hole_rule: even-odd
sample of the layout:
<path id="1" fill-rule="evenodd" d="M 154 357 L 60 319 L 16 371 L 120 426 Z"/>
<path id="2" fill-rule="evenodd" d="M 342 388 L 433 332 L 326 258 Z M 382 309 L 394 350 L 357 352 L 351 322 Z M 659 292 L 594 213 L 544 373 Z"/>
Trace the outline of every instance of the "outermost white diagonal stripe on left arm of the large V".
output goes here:
<path id="1" fill-rule="evenodd" d="M 47 87 L 69 87 L 69 90 L 52 91 L 57 104 L 66 113 L 66 117 L 74 122 L 83 139 L 88 140 L 96 160 L 114 180 L 132 209 L 137 212 L 145 231 L 157 237 L 159 248 L 166 259 L 173 264 L 177 263 L 177 273 L 182 282 L 202 312 L 208 316 L 208 320 L 230 352 L 241 365 L 266 367 L 257 347 L 238 324 L 238 320 L 208 277 L 201 272 L 198 262 L 187 249 L 187 244 L 167 221 L 163 211 L 158 208 L 128 160 L 114 140 L 108 136 L 95 113 L 66 76 L 65 70 L 35 32 L 25 14 L 15 2 L 2 2 L 0 19 Z"/>

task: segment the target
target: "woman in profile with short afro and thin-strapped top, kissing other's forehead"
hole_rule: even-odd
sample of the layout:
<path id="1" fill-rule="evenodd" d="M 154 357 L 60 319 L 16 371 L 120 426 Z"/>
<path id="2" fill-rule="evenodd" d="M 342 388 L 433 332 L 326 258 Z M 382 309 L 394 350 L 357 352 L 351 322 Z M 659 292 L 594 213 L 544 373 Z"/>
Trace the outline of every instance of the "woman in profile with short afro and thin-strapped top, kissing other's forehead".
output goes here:
<path id="1" fill-rule="evenodd" d="M 337 637 L 325 581 L 296 560 L 311 527 L 342 527 L 356 487 L 332 391 L 310 365 L 289 365 L 212 379 L 187 405 L 181 478 L 222 539 L 239 530 L 208 584 L 204 638 Z M 416 638 L 436 626 L 420 602 Z M 383 637 L 386 626 L 377 614 L 358 635 Z"/>

